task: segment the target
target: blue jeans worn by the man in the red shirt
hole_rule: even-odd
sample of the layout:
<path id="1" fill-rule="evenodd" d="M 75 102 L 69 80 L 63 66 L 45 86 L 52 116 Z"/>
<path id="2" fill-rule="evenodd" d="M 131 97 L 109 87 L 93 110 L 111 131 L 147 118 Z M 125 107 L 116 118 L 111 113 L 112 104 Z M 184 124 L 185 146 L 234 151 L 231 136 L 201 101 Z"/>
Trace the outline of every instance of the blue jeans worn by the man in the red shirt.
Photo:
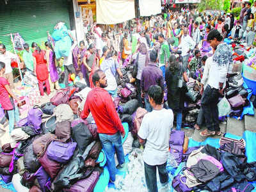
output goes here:
<path id="1" fill-rule="evenodd" d="M 102 143 L 102 148 L 106 152 L 107 165 L 109 170 L 110 179 L 112 181 L 116 180 L 116 163 L 115 163 L 115 151 L 119 164 L 124 163 L 124 149 L 122 146 L 122 139 L 119 132 L 116 134 L 102 134 L 99 133 L 100 142 Z"/>

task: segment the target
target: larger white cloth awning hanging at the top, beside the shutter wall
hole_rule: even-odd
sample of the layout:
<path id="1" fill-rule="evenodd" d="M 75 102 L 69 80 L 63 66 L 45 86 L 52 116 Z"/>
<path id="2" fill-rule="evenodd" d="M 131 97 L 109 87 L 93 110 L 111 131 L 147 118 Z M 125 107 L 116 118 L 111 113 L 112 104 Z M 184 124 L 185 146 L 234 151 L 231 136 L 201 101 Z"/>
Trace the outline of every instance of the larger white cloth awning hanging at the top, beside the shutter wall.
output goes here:
<path id="1" fill-rule="evenodd" d="M 118 24 L 135 18 L 134 0 L 97 0 L 97 24 Z"/>

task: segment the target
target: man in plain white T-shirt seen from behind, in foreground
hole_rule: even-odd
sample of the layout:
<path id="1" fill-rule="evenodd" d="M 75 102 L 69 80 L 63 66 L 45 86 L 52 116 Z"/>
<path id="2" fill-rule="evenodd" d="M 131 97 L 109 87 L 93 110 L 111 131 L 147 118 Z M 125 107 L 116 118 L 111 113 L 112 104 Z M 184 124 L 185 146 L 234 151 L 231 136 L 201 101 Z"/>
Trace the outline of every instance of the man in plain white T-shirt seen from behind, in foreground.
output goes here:
<path id="1" fill-rule="evenodd" d="M 138 136 L 141 144 L 146 141 L 143 161 L 147 188 L 149 192 L 156 192 L 156 168 L 161 184 L 168 187 L 166 162 L 169 154 L 170 130 L 173 127 L 173 112 L 171 109 L 163 108 L 163 90 L 158 85 L 150 86 L 148 100 L 154 110 L 144 116 Z"/>

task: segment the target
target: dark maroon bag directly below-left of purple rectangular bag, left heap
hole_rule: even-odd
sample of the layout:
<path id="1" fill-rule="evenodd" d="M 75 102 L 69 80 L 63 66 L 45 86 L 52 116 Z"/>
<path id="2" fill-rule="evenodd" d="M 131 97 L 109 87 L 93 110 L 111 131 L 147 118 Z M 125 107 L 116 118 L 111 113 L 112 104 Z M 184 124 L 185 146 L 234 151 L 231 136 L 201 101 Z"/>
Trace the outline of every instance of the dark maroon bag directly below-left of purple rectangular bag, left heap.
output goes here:
<path id="1" fill-rule="evenodd" d="M 40 157 L 39 162 L 44 167 L 45 172 L 50 175 L 51 179 L 54 179 L 61 169 L 61 164 L 49 159 L 47 152 L 44 153 L 44 156 Z"/>

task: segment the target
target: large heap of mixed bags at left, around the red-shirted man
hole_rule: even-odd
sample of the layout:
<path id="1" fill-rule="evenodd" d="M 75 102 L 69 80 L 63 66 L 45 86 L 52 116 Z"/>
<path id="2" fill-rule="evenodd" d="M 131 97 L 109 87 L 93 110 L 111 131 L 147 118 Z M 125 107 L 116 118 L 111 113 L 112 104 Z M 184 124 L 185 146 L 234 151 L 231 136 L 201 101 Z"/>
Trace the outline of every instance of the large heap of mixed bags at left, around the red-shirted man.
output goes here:
<path id="1" fill-rule="evenodd" d="M 17 191 L 22 187 L 29 191 L 93 191 L 106 156 L 92 115 L 86 120 L 78 115 L 90 90 L 84 86 L 64 88 L 51 102 L 29 109 L 2 147 L 0 175 L 4 182 L 11 182 L 15 175 L 22 184 L 15 186 Z M 127 122 L 132 132 L 125 130 L 128 141 L 124 150 L 129 153 L 134 145 L 132 136 L 140 147 L 136 135 L 147 111 L 138 108 L 136 99 L 114 102 L 122 122 Z"/>

